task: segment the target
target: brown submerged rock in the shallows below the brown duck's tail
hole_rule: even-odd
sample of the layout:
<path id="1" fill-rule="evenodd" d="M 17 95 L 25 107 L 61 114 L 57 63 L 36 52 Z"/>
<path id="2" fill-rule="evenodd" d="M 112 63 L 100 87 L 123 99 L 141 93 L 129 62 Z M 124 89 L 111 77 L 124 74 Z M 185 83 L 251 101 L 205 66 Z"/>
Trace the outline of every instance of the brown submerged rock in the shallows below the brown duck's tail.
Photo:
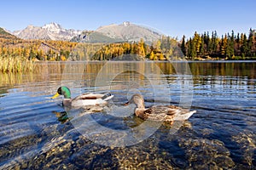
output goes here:
<path id="1" fill-rule="evenodd" d="M 219 140 L 178 139 L 178 144 L 189 160 L 189 167 L 195 169 L 230 169 L 235 166 L 230 151 Z"/>

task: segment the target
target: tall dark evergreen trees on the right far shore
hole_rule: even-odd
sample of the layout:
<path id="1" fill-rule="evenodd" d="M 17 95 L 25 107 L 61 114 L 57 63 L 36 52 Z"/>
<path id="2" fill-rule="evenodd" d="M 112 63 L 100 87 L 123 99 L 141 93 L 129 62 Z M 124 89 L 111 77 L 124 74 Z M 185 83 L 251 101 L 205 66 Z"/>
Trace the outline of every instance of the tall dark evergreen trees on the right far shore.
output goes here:
<path id="1" fill-rule="evenodd" d="M 256 32 L 250 29 L 247 36 L 231 31 L 219 38 L 217 31 L 195 31 L 187 40 L 183 36 L 179 46 L 187 59 L 256 59 Z"/>

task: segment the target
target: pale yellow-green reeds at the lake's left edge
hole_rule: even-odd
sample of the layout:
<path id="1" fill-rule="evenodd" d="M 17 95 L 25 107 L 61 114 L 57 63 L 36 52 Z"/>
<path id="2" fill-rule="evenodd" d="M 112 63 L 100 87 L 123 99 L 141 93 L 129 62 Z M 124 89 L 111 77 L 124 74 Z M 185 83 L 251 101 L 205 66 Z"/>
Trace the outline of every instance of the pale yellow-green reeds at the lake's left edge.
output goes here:
<path id="1" fill-rule="evenodd" d="M 3 57 L 0 56 L 0 71 L 23 72 L 33 71 L 34 62 L 23 57 Z"/>

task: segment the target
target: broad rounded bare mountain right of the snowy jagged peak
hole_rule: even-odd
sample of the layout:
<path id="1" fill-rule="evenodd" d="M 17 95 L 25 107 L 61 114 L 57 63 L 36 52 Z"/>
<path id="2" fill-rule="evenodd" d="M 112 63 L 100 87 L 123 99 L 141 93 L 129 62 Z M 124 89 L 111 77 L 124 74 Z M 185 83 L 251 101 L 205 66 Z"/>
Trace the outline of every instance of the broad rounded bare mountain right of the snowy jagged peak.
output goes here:
<path id="1" fill-rule="evenodd" d="M 84 31 L 72 41 L 76 42 L 139 42 L 142 38 L 146 43 L 158 40 L 161 34 L 144 26 L 126 21 L 119 25 L 101 26 L 96 31 Z"/>

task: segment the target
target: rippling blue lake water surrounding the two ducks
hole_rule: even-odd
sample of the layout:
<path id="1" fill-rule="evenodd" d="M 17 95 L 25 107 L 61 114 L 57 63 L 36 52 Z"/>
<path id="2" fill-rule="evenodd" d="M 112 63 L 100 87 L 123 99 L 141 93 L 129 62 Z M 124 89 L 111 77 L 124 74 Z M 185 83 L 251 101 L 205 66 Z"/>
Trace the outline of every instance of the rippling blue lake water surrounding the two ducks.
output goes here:
<path id="1" fill-rule="evenodd" d="M 38 63 L 0 73 L 0 169 L 255 169 L 256 62 Z M 65 110 L 50 99 L 65 85 L 114 98 L 102 112 Z M 172 127 L 124 106 L 197 112 Z"/>

